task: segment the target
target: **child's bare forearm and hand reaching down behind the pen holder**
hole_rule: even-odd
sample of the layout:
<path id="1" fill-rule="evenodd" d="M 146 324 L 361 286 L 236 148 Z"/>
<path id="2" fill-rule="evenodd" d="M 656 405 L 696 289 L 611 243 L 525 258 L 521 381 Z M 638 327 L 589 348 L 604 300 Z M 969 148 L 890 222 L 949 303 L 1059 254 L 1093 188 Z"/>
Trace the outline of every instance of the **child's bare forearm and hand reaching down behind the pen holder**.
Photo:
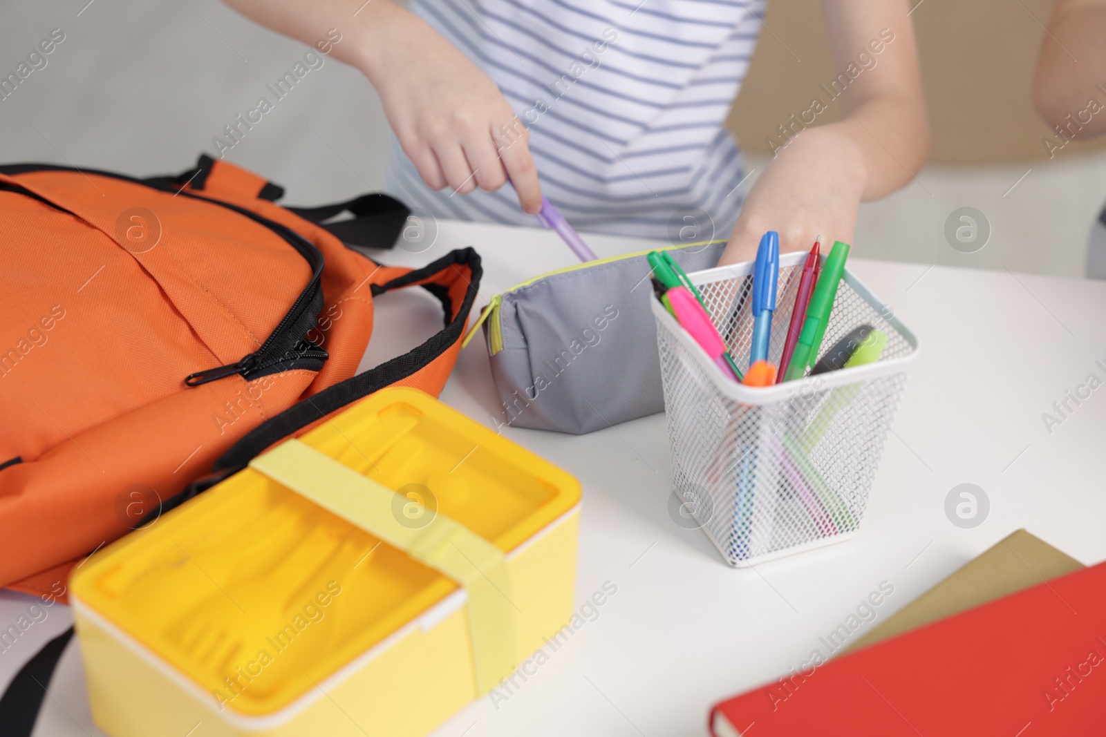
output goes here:
<path id="1" fill-rule="evenodd" d="M 823 246 L 852 244 L 860 201 L 917 179 L 929 126 L 911 6 L 823 0 L 834 66 L 852 78 L 841 95 L 842 119 L 802 130 L 779 151 L 749 192 L 720 263 L 754 259 L 769 230 L 779 231 L 781 251 L 807 251 L 818 235 Z"/>

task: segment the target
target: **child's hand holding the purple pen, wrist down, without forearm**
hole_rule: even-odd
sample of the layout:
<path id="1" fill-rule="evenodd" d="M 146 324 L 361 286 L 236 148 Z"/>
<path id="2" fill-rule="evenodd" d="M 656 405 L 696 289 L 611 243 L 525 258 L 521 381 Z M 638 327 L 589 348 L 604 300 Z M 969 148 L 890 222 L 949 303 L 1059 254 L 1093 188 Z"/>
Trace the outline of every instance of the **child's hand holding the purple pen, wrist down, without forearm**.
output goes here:
<path id="1" fill-rule="evenodd" d="M 495 83 L 414 13 L 390 3 L 376 10 L 357 65 L 424 181 L 466 194 L 478 186 L 494 191 L 510 176 L 522 209 L 536 213 L 542 193 L 529 131 Z"/>

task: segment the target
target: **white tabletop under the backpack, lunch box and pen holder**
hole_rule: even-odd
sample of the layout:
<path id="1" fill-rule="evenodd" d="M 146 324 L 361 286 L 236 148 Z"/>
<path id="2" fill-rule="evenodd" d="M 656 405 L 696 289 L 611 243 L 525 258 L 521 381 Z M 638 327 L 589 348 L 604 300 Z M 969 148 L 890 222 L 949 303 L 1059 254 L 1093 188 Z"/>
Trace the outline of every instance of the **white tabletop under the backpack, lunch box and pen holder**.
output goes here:
<path id="1" fill-rule="evenodd" d="M 424 253 L 380 259 L 421 265 L 473 245 L 484 263 L 478 307 L 573 262 L 549 232 L 458 222 L 441 222 L 439 230 Z M 649 246 L 602 236 L 588 242 L 601 256 Z M 664 415 L 586 436 L 505 428 L 508 438 L 583 484 L 577 602 L 604 581 L 618 591 L 567 644 L 547 647 L 549 662 L 514 694 L 495 704 L 481 698 L 435 737 L 701 736 L 710 704 L 797 666 L 881 581 L 895 590 L 876 622 L 1019 527 L 1085 564 L 1106 558 L 1106 388 L 1051 433 L 1042 420 L 1089 373 L 1106 379 L 1095 365 L 1106 366 L 1106 284 L 928 264 L 856 260 L 849 266 L 924 344 L 858 536 L 734 570 L 702 531 L 669 517 Z M 428 296 L 380 299 L 363 367 L 439 327 Z M 498 402 L 481 339 L 461 354 L 442 399 L 494 424 Z M 945 515 L 946 495 L 963 482 L 981 486 L 991 502 L 989 517 L 973 529 Z M 29 601 L 0 594 L 0 624 L 14 621 Z M 0 653 L 0 683 L 69 621 L 64 608 L 54 608 L 17 647 Z M 80 660 L 71 644 L 35 735 L 100 734 Z"/>

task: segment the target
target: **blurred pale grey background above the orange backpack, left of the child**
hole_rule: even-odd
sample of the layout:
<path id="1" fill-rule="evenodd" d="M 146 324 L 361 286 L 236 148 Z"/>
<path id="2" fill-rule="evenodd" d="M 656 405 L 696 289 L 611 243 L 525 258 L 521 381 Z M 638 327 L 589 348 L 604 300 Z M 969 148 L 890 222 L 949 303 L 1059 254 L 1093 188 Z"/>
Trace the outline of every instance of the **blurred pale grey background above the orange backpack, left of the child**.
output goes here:
<path id="1" fill-rule="evenodd" d="M 45 69 L 0 102 L 0 161 L 181 171 L 215 154 L 211 138 L 236 114 L 273 101 L 265 84 L 309 51 L 215 0 L 86 3 L 0 9 L 3 74 L 51 29 L 65 32 Z M 387 136 L 373 87 L 326 60 L 226 158 L 284 186 L 285 201 L 311 204 L 379 187 Z"/>

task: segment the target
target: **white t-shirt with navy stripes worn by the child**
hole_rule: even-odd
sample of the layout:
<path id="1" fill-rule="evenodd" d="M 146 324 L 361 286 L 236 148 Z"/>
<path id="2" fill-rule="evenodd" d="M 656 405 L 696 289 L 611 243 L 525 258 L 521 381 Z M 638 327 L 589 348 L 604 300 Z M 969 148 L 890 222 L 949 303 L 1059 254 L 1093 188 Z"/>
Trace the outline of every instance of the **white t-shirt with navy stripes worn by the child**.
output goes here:
<path id="1" fill-rule="evenodd" d="M 741 157 L 724 122 L 765 0 L 413 0 L 530 128 L 544 193 L 577 229 L 728 238 Z M 428 188 L 393 138 L 389 191 L 436 217 L 534 224 L 508 186 Z M 706 220 L 695 210 L 706 212 Z M 686 229 L 685 229 L 686 230 Z M 712 232 L 711 232 L 712 231 Z"/>

